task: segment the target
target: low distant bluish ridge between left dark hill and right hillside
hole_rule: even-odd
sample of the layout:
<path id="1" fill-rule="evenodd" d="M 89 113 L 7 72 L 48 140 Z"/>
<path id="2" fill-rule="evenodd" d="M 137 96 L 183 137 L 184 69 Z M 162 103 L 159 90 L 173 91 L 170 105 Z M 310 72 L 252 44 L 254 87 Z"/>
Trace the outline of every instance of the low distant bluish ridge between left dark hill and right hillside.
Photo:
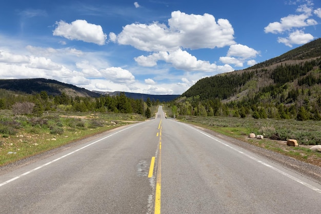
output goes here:
<path id="1" fill-rule="evenodd" d="M 149 98 L 150 100 L 159 100 L 159 102 L 169 102 L 172 100 L 175 100 L 176 98 L 178 98 L 178 96 L 180 95 L 158 95 L 158 94 L 145 94 L 145 93 L 130 93 L 130 92 L 121 92 L 121 91 L 114 91 L 114 92 L 103 92 L 103 91 L 94 91 L 96 93 L 101 93 L 104 95 L 110 95 L 110 96 L 115 96 L 115 95 L 119 95 L 120 93 L 125 93 L 125 95 L 128 98 L 132 98 L 134 100 L 137 99 L 143 99 L 144 101 L 147 100 L 147 98 Z"/>

